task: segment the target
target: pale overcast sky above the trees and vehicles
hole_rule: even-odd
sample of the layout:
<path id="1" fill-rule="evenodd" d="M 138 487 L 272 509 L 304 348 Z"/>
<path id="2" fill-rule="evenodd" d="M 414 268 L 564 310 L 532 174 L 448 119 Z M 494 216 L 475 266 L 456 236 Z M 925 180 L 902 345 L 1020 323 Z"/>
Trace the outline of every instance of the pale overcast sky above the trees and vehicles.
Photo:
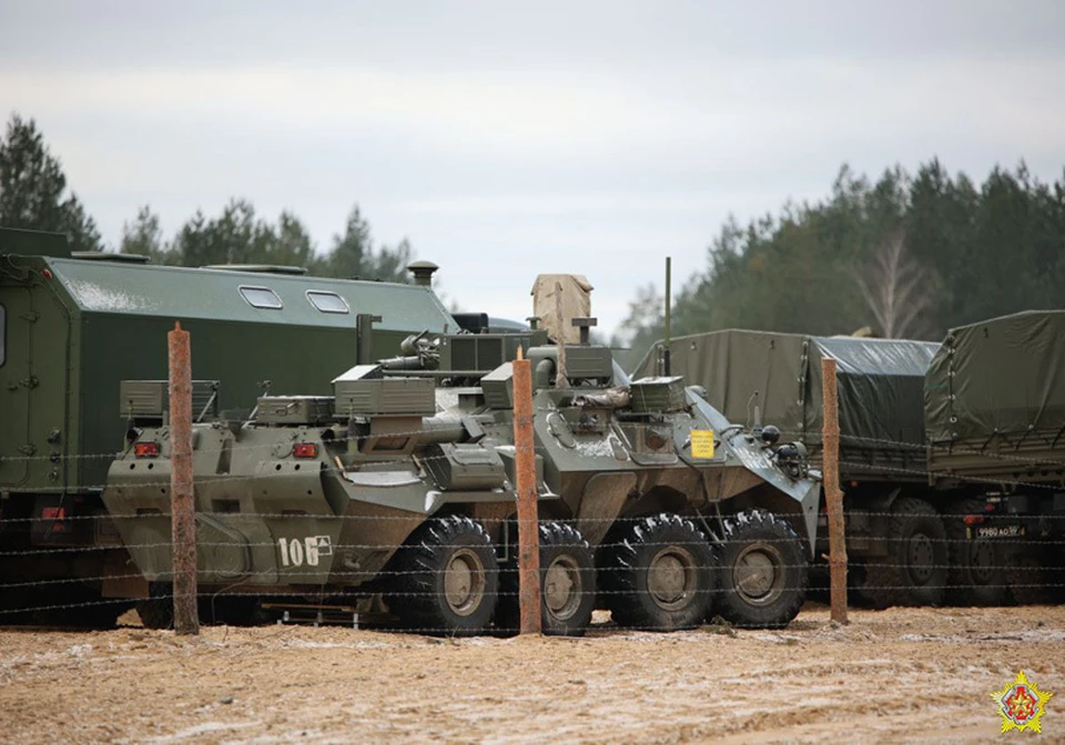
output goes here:
<path id="1" fill-rule="evenodd" d="M 111 245 L 243 196 L 324 249 L 358 202 L 464 309 L 579 273 L 609 330 L 843 162 L 1061 178 L 1065 2 L 0 0 L 0 110 Z"/>

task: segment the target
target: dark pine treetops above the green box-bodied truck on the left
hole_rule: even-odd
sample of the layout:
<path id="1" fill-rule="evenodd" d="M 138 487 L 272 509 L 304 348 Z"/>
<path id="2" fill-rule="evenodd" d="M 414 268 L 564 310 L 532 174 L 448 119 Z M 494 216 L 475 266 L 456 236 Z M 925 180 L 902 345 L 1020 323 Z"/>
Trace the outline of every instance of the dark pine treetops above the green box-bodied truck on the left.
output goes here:
<path id="1" fill-rule="evenodd" d="M 105 249 L 95 221 L 68 188 L 62 165 L 37 123 L 19 114 L 12 114 L 0 141 L 0 225 L 65 233 L 73 251 Z M 169 239 L 159 215 L 145 205 L 123 224 L 118 249 L 172 266 L 295 265 L 320 276 L 386 282 L 406 282 L 406 266 L 414 257 L 406 239 L 395 246 L 375 245 L 357 204 L 329 248 L 318 253 L 292 212 L 271 222 L 240 198 L 231 200 L 216 216 L 197 210 Z"/>

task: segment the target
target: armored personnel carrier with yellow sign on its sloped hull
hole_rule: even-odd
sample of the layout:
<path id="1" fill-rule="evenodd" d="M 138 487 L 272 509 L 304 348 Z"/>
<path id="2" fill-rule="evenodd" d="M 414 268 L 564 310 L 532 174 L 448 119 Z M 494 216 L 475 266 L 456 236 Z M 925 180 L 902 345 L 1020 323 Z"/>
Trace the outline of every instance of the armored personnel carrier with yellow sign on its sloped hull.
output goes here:
<path id="1" fill-rule="evenodd" d="M 558 496 L 545 507 L 596 550 L 597 604 L 647 630 L 711 613 L 787 624 L 803 602 L 818 520 L 820 484 L 802 446 L 779 442 L 773 427 L 730 423 L 683 378 L 630 381 L 587 330 L 582 344 L 527 356 L 542 489 Z M 486 443 L 506 450 L 510 365 L 484 376 L 475 396 L 473 410 L 491 417 Z"/>

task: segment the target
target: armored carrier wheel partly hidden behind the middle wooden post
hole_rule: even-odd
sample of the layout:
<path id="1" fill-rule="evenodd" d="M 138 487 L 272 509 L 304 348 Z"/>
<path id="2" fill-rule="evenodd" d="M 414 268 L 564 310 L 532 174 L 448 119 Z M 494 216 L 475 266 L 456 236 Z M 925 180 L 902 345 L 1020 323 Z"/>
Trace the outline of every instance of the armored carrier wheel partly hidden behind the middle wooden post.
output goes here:
<path id="1" fill-rule="evenodd" d="M 549 636 L 582 636 L 596 605 L 596 563 L 588 541 L 577 529 L 562 522 L 545 522 L 540 533 L 540 618 Z M 517 542 L 515 542 L 517 552 Z M 517 557 L 507 562 L 499 576 L 496 627 L 517 633 Z"/>

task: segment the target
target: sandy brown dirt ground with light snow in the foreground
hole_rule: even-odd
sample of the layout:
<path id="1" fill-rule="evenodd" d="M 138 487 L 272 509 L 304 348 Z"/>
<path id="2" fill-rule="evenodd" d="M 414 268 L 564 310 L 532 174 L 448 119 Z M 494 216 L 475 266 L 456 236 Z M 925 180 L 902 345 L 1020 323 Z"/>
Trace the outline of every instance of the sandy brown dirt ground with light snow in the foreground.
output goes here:
<path id="1" fill-rule="evenodd" d="M 985 742 L 1006 737 L 990 694 L 1018 670 L 1057 694 L 1039 742 L 1065 742 L 1065 606 L 851 611 L 840 627 L 810 605 L 780 632 L 579 640 L 7 629 L 0 739 Z"/>

